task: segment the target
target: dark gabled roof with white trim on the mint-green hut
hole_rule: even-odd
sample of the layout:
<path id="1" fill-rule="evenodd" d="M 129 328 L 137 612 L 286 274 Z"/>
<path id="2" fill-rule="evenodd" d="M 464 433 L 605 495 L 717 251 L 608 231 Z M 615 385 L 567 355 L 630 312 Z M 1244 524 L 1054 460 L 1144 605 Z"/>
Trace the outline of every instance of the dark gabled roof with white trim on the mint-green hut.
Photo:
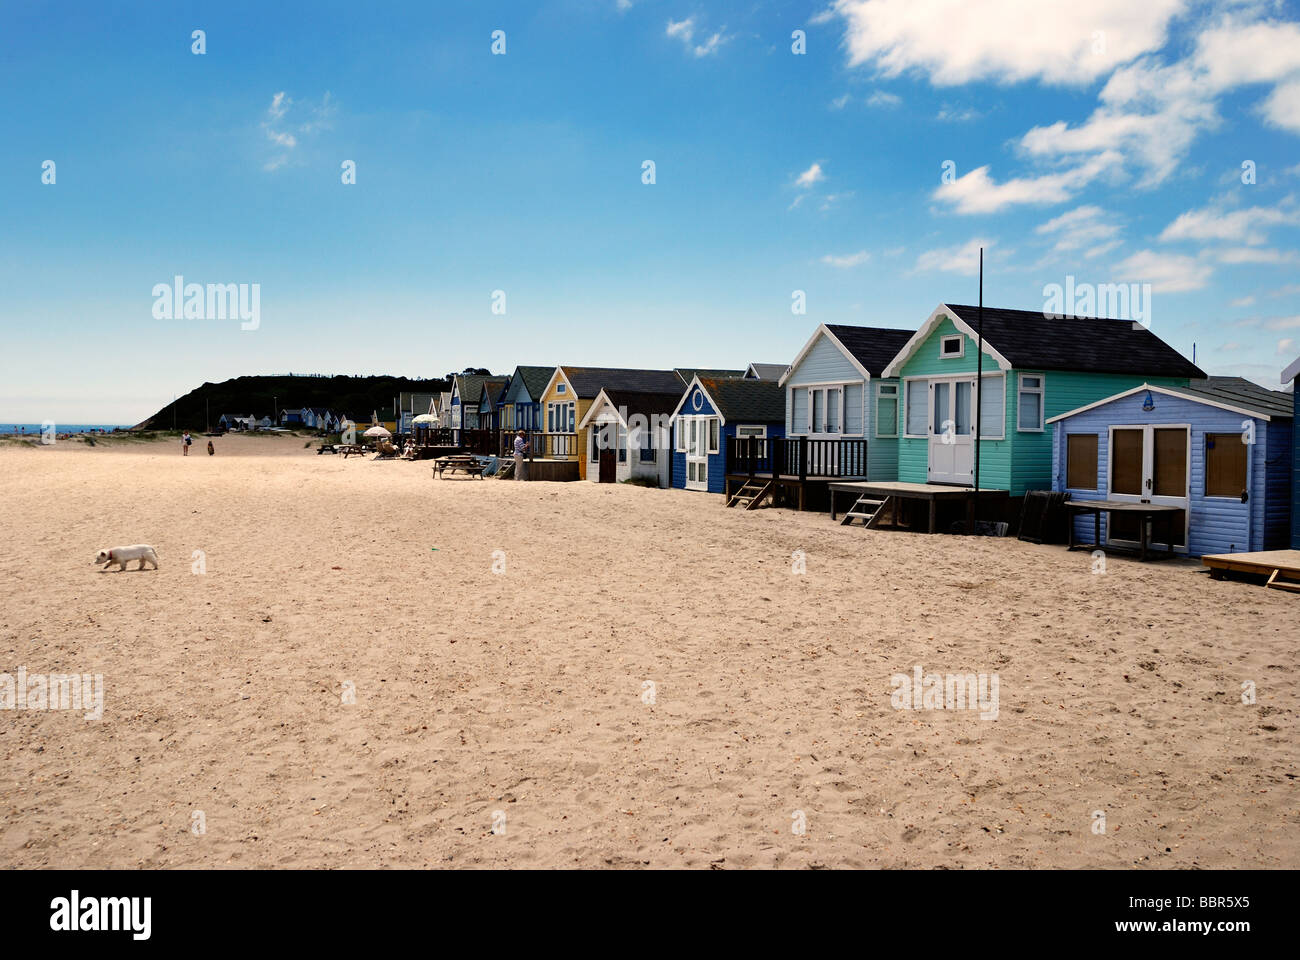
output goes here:
<path id="1" fill-rule="evenodd" d="M 952 319 L 966 336 L 978 336 L 979 307 L 941 303 L 889 362 L 885 376 L 897 376 L 904 363 L 945 319 Z M 1002 369 L 1205 379 L 1205 371 L 1132 320 L 1053 317 L 1045 316 L 1041 310 L 984 307 L 983 324 L 984 353 Z"/>

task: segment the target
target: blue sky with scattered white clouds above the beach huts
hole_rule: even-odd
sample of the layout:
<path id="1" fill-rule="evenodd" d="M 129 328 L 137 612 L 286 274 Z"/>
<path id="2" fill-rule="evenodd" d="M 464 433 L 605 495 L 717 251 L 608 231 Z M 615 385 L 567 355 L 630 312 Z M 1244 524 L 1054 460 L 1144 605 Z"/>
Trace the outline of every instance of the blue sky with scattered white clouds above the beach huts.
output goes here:
<path id="1" fill-rule="evenodd" d="M 0 8 L 0 423 L 243 373 L 786 362 L 974 302 L 980 243 L 987 303 L 1150 284 L 1210 372 L 1300 354 L 1292 4 L 114 7 Z M 176 274 L 259 284 L 260 327 L 156 319 Z"/>

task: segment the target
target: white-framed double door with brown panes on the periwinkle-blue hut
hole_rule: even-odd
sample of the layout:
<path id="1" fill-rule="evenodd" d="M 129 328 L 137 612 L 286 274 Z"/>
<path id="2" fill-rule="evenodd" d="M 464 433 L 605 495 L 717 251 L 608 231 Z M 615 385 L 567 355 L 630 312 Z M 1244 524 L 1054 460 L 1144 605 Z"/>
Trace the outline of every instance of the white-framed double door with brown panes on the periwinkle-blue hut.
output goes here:
<path id="1" fill-rule="evenodd" d="M 1190 433 L 1186 424 L 1110 428 L 1110 500 L 1179 507 L 1182 513 L 1169 522 L 1175 550 L 1187 549 Z M 1110 514 L 1106 542 L 1138 546 L 1139 524 L 1130 514 Z M 1164 519 L 1152 524 L 1153 545 L 1167 546 L 1164 531 Z"/>

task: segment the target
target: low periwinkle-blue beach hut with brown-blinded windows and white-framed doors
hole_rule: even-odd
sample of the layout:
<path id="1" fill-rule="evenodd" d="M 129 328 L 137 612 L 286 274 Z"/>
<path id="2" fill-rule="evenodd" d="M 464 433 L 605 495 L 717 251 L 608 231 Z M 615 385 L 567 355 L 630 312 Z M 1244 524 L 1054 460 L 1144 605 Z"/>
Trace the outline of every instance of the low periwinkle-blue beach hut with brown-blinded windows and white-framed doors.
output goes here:
<path id="1" fill-rule="evenodd" d="M 1065 414 L 1053 429 L 1054 490 L 1074 500 L 1178 509 L 1173 549 L 1192 557 L 1287 546 L 1292 518 L 1292 397 L 1242 377 L 1143 382 Z M 1091 542 L 1093 519 L 1075 520 Z M 1157 544 L 1164 524 L 1153 526 Z M 1102 545 L 1131 548 L 1138 520 L 1102 519 Z"/>

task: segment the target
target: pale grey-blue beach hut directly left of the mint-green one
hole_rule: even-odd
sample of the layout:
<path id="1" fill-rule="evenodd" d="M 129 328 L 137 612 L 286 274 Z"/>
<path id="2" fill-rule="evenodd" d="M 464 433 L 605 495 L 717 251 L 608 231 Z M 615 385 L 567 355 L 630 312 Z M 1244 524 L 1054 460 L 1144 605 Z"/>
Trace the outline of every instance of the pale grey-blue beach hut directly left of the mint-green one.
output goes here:
<path id="1" fill-rule="evenodd" d="M 837 475 L 896 479 L 898 380 L 883 371 L 911 336 L 889 327 L 818 327 L 780 380 L 786 436 L 864 441 L 866 462 L 846 458 Z"/>

